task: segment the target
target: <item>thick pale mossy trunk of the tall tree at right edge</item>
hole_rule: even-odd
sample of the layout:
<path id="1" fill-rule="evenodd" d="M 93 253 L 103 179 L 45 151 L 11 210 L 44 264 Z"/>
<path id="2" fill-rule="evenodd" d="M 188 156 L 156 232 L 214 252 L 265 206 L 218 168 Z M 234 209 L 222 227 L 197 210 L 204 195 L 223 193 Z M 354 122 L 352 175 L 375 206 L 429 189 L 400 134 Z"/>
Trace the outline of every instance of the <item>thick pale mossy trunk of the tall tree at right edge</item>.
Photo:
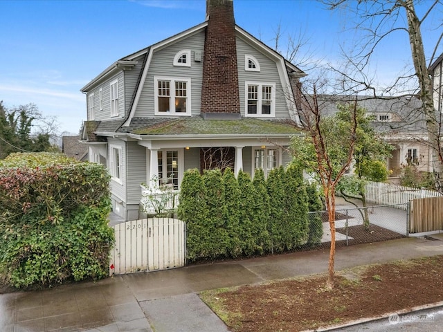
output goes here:
<path id="1" fill-rule="evenodd" d="M 441 175 L 443 174 L 443 155 L 440 147 L 440 124 L 437 121 L 434 109 L 433 84 L 424 54 L 423 39 L 420 30 L 421 22 L 415 12 L 413 0 L 406 0 L 404 8 L 408 19 L 410 50 L 415 68 L 415 75 L 417 75 L 419 81 L 420 97 L 422 98 L 423 103 L 422 109 L 426 120 L 429 145 L 432 149 L 433 172 L 436 175 L 437 190 L 442 192 L 443 183 Z"/>

